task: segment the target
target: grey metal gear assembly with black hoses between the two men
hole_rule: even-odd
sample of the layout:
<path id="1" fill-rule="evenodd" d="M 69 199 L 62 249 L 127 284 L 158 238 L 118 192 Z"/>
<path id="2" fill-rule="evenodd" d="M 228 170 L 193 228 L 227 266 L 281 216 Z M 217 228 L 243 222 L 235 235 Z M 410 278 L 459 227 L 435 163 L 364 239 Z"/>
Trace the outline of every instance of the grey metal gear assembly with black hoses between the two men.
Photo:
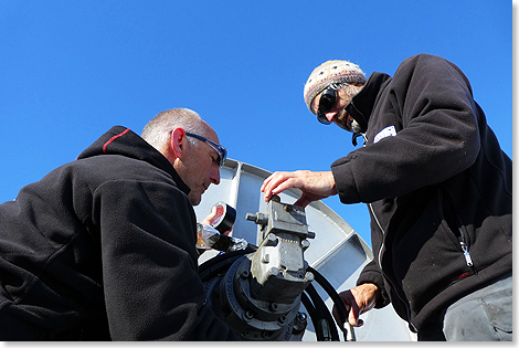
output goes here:
<path id="1" fill-rule="evenodd" d="M 212 226 L 199 225 L 198 247 L 222 251 L 199 267 L 216 316 L 243 340 L 301 340 L 309 321 L 317 340 L 341 340 L 339 330 L 343 340 L 354 340 L 353 328 L 336 325 L 315 287 L 328 294 L 345 320 L 347 309 L 336 289 L 305 261 L 315 233 L 308 231 L 304 208 L 274 196 L 263 213 L 247 213 L 246 220 L 257 224 L 255 246 L 223 234 L 232 229 L 235 211 L 222 202 L 215 207 Z"/>

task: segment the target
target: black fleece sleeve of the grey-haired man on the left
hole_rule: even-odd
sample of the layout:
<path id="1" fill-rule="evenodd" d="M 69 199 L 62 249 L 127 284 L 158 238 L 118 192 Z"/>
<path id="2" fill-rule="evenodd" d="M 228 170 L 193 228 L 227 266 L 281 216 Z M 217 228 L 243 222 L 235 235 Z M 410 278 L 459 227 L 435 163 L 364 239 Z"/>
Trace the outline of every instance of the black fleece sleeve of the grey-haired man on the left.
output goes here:
<path id="1" fill-rule="evenodd" d="M 105 182 L 94 194 L 114 340 L 236 340 L 204 305 L 195 215 L 163 182 Z"/>

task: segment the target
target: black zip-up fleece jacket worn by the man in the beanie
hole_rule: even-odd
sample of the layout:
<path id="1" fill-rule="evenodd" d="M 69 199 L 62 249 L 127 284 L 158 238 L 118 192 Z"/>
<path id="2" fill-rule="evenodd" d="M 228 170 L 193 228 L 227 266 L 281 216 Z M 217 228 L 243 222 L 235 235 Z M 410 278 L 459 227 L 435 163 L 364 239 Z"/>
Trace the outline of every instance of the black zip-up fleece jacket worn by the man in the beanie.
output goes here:
<path id="1" fill-rule="evenodd" d="M 369 203 L 374 260 L 358 284 L 420 330 L 511 272 L 511 160 L 466 76 L 437 56 L 373 73 L 347 110 L 368 125 L 366 146 L 331 166 L 341 201 Z"/>

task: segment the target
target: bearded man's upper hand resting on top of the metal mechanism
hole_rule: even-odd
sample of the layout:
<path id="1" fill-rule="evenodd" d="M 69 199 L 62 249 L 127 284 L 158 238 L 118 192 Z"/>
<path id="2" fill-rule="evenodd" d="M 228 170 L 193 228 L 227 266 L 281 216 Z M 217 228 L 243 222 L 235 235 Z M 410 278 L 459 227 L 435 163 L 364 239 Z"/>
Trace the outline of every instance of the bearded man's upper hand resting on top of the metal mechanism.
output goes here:
<path id="1" fill-rule="evenodd" d="M 263 181 L 261 191 L 265 193 L 265 201 L 290 188 L 303 191 L 301 197 L 294 203 L 305 208 L 314 201 L 337 194 L 336 181 L 331 171 L 276 171 Z"/>

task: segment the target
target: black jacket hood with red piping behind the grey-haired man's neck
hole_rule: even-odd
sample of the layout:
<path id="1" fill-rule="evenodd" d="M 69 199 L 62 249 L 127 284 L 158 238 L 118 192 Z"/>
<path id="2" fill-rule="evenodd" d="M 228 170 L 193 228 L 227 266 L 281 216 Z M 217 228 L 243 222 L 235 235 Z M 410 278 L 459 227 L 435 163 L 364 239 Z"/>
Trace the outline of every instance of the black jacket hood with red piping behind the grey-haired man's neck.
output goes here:
<path id="1" fill-rule="evenodd" d="M 191 191 L 162 154 L 133 130 L 123 126 L 112 127 L 81 152 L 77 159 L 109 155 L 119 155 L 146 161 L 168 172 L 174 182 L 177 182 L 178 188 L 186 194 Z"/>

